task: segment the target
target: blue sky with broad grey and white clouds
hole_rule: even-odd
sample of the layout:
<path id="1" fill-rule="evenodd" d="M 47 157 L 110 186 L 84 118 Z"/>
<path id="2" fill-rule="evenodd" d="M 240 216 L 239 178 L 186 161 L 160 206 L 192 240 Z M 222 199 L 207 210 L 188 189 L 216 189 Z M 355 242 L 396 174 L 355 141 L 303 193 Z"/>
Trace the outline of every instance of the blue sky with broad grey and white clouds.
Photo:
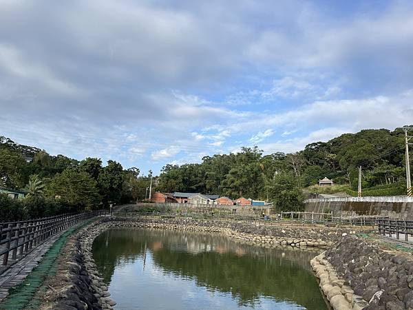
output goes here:
<path id="1" fill-rule="evenodd" d="M 413 123 L 413 1 L 0 0 L 0 135 L 142 174 Z"/>

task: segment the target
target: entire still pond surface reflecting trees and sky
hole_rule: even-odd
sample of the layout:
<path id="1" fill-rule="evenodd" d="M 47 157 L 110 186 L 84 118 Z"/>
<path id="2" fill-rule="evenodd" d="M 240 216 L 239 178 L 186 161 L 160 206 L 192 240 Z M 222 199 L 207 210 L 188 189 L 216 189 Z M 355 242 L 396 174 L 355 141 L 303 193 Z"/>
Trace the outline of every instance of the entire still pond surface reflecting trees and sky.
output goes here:
<path id="1" fill-rule="evenodd" d="M 153 229 L 112 229 L 93 245 L 115 309 L 327 309 L 317 253 Z"/>

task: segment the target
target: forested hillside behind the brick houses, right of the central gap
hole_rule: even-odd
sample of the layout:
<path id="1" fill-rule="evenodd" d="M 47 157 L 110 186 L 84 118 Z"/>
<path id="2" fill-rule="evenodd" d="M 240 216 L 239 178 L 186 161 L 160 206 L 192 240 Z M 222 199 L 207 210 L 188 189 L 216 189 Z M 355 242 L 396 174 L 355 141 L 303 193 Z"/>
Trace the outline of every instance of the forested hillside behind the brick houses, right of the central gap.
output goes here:
<path id="1" fill-rule="evenodd" d="M 301 199 L 300 189 L 325 176 L 357 190 L 357 167 L 361 165 L 364 189 L 377 188 L 375 194 L 386 194 L 389 191 L 384 189 L 390 188 L 399 194 L 405 186 L 404 147 L 400 129 L 343 134 L 325 143 L 310 143 L 295 154 L 263 156 L 257 147 L 244 147 L 238 154 L 204 157 L 200 164 L 166 165 L 159 184 L 165 192 L 283 200 L 293 207 Z"/>

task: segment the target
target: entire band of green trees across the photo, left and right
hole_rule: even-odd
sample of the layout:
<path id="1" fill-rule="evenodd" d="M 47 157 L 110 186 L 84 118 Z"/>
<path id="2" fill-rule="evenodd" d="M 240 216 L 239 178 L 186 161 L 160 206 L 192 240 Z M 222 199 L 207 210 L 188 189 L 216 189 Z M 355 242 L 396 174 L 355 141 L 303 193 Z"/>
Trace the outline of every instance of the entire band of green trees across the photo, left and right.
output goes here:
<path id="1" fill-rule="evenodd" d="M 300 209 L 303 189 L 316 190 L 309 186 L 325 176 L 354 194 L 359 165 L 364 193 L 404 194 L 404 156 L 402 130 L 362 130 L 311 143 L 295 154 L 263 155 L 257 147 L 244 147 L 237 154 L 206 156 L 202 163 L 165 165 L 154 177 L 153 190 L 244 196 L 272 201 L 278 209 Z M 0 217 L 44 216 L 144 200 L 151 176 L 139 173 L 116 161 L 103 166 L 99 158 L 51 156 L 0 136 L 0 187 L 28 192 L 19 201 L 0 195 Z"/>

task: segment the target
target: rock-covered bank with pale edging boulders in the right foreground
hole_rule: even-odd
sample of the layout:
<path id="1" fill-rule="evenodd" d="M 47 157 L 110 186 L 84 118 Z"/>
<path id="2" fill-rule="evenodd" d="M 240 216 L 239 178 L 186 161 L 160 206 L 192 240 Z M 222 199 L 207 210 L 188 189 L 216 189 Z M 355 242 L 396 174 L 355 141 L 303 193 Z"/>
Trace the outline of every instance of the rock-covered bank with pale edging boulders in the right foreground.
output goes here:
<path id="1" fill-rule="evenodd" d="M 333 309 L 413 309 L 413 260 L 346 236 L 311 261 Z"/>

